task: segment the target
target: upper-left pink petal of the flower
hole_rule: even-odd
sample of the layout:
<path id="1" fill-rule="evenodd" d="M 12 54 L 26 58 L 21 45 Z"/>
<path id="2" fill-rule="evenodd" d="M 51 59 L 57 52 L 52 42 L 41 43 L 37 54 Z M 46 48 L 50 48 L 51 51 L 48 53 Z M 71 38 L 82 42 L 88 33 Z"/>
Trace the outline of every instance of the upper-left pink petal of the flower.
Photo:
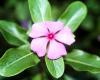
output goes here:
<path id="1" fill-rule="evenodd" d="M 40 36 L 46 36 L 48 34 L 48 30 L 46 25 L 42 23 L 35 23 L 32 25 L 32 31 L 30 32 L 29 36 L 32 38 L 37 38 Z"/>

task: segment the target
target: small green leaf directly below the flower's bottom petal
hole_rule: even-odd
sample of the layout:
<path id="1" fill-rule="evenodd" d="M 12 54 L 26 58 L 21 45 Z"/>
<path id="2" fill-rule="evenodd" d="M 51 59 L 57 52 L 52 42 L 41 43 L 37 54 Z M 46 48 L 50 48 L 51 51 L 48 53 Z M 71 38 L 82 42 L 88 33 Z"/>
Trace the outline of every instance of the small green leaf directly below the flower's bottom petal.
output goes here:
<path id="1" fill-rule="evenodd" d="M 45 58 L 46 66 L 50 74 L 55 78 L 60 78 L 64 73 L 64 61 L 63 58 L 57 60 L 50 60 Z"/>

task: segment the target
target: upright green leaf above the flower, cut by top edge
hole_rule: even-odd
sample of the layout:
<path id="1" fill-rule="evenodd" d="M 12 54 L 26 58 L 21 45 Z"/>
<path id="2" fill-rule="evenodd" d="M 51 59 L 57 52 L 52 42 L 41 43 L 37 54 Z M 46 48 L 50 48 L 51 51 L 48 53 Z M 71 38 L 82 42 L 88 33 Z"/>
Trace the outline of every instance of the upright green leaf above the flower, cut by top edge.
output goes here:
<path id="1" fill-rule="evenodd" d="M 34 22 L 51 20 L 51 7 L 48 0 L 28 0 L 28 3 Z"/>

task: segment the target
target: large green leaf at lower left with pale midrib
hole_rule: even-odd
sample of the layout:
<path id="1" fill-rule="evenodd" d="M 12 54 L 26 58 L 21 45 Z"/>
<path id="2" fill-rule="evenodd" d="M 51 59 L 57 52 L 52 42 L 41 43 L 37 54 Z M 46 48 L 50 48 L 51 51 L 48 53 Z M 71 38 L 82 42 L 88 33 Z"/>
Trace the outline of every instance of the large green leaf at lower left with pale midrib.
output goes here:
<path id="1" fill-rule="evenodd" d="M 10 77 L 35 66 L 38 57 L 24 46 L 8 49 L 0 59 L 0 75 Z"/>

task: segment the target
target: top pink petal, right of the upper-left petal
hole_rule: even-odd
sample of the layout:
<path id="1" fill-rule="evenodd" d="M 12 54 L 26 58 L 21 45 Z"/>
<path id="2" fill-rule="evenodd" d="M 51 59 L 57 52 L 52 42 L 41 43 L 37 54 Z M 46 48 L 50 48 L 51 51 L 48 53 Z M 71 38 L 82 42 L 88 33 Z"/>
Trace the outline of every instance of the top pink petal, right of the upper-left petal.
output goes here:
<path id="1" fill-rule="evenodd" d="M 62 22 L 45 22 L 45 24 L 51 33 L 56 33 L 64 26 Z"/>

